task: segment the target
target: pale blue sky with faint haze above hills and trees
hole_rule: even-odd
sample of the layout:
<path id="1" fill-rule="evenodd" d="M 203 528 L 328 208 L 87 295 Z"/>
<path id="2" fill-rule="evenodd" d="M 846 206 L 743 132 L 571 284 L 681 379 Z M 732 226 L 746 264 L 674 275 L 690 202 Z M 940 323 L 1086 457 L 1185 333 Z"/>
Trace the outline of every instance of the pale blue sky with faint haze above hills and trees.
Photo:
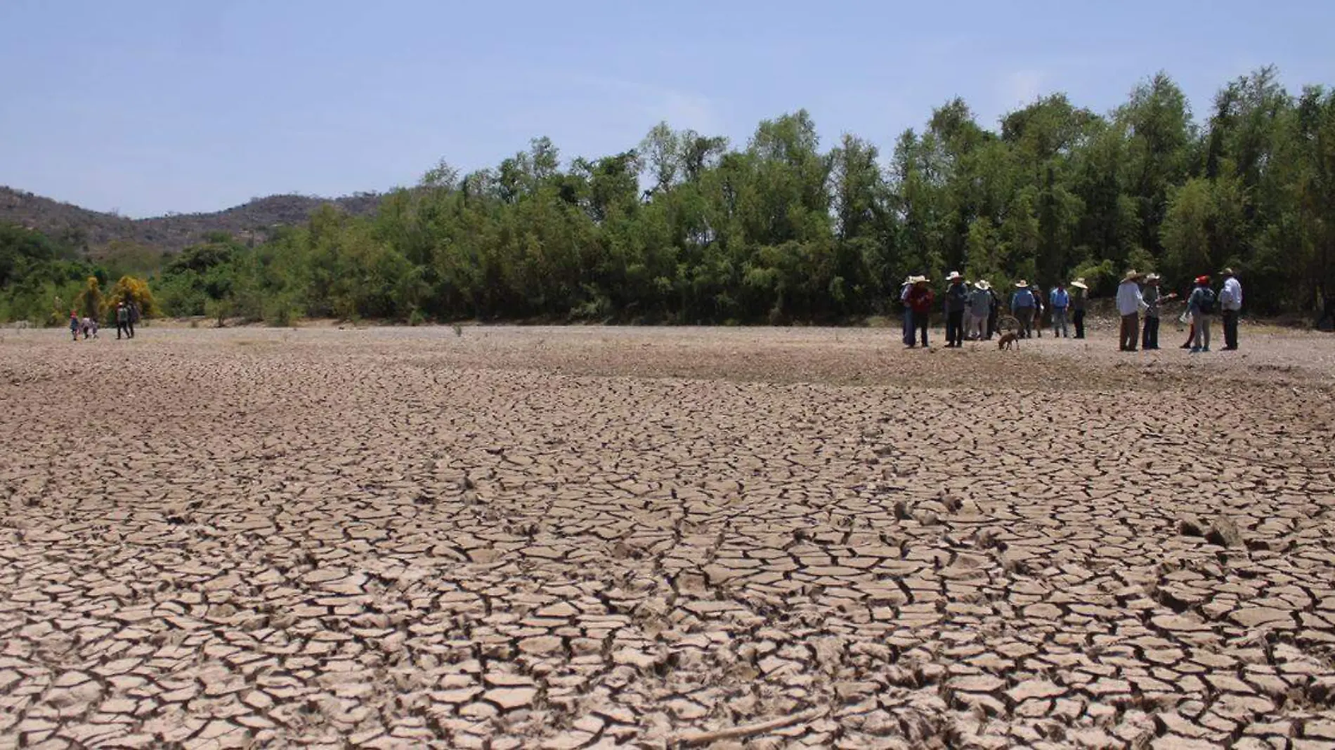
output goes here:
<path id="1" fill-rule="evenodd" d="M 888 151 L 963 96 L 1104 112 L 1164 69 L 1197 115 L 1263 64 L 1335 84 L 1330 0 L 0 0 L 0 184 L 128 216 L 413 184 L 634 147 L 745 143 L 806 108 Z"/>

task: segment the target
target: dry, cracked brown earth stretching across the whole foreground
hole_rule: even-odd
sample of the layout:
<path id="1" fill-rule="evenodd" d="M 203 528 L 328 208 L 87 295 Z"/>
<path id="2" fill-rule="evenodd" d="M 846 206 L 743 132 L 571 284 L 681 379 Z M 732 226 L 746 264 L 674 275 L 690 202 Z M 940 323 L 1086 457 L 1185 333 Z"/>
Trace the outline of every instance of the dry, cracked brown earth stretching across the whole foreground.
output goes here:
<path id="1" fill-rule="evenodd" d="M 0 331 L 0 747 L 1335 749 L 1335 338 L 1177 336 Z"/>

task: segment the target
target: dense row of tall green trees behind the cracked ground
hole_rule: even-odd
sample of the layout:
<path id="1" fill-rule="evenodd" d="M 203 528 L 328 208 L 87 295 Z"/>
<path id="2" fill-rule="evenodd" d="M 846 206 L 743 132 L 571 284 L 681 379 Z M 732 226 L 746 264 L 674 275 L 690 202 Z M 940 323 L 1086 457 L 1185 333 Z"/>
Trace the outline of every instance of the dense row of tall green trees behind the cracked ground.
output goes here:
<path id="1" fill-rule="evenodd" d="M 805 111 L 744 145 L 654 127 L 633 149 L 562 163 L 545 137 L 495 168 L 442 161 L 354 218 L 318 210 L 246 247 L 227 235 L 151 283 L 172 315 L 421 322 L 840 322 L 897 312 L 902 278 L 995 284 L 1127 268 L 1185 287 L 1232 266 L 1254 314 L 1335 296 L 1335 92 L 1274 68 L 1193 116 L 1155 75 L 1108 113 L 1044 96 L 980 125 L 963 100 L 882 155 L 822 149 Z M 0 308 L 3 312 L 3 308 Z"/>

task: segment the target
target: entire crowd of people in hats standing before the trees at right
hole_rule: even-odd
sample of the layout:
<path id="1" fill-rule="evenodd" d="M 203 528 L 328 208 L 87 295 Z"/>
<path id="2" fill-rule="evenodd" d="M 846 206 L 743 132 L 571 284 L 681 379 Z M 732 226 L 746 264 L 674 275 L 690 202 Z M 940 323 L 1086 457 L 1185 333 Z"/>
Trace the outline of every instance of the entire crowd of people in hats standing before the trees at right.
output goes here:
<path id="1" fill-rule="evenodd" d="M 1211 288 L 1210 276 L 1199 276 L 1187 296 L 1187 319 L 1191 332 L 1181 348 L 1192 352 L 1210 351 L 1210 318 L 1216 312 L 1223 316 L 1224 350 L 1238 348 L 1238 314 L 1243 304 L 1243 290 L 1232 268 L 1220 274 L 1224 283 L 1216 294 Z M 1121 350 L 1159 348 L 1159 314 L 1163 303 L 1177 299 L 1176 294 L 1160 291 L 1157 274 L 1128 271 L 1117 287 L 1117 312 L 1121 315 Z M 1028 339 L 1043 336 L 1043 320 L 1051 318 L 1052 335 L 1071 336 L 1075 328 L 1076 339 L 1085 338 L 1085 308 L 1089 286 L 1083 278 L 1069 284 L 1059 283 L 1047 295 L 1036 284 L 1019 280 L 1011 294 L 1008 307 L 1016 319 L 1016 336 Z M 965 340 L 992 340 L 997 334 L 997 316 L 1003 310 L 1001 298 L 987 279 L 973 282 L 964 279 L 957 271 L 947 278 L 945 287 L 945 338 L 947 348 L 959 348 Z M 914 348 L 928 346 L 928 323 L 936 304 L 936 292 L 926 276 L 909 276 L 900 287 L 900 302 L 904 304 L 904 346 Z M 1141 315 L 1144 326 L 1141 327 Z"/>

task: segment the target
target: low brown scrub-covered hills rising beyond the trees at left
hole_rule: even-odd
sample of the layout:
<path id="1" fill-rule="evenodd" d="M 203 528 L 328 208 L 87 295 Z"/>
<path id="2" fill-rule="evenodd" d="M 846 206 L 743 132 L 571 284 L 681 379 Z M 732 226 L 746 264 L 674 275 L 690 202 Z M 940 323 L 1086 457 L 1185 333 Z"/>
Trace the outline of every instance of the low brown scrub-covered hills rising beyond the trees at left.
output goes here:
<path id="1" fill-rule="evenodd" d="M 170 214 L 152 219 L 125 219 L 0 185 L 0 223 L 37 230 L 83 248 L 96 258 L 100 251 L 117 240 L 170 252 L 200 242 L 208 232 L 227 232 L 243 242 L 263 242 L 275 227 L 300 224 L 326 203 L 360 216 L 372 214 L 380 199 L 379 194 L 356 194 L 335 199 L 271 195 L 214 214 Z"/>

